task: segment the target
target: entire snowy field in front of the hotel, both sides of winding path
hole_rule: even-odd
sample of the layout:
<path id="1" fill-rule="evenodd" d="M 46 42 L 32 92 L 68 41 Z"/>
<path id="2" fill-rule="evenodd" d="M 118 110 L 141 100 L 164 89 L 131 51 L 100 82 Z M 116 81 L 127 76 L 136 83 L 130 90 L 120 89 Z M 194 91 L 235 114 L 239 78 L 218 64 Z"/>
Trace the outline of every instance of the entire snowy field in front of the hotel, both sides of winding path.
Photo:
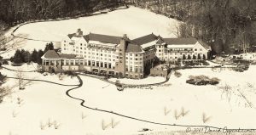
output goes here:
<path id="1" fill-rule="evenodd" d="M 2 74 L 13 75 L 12 71 L 0 70 Z M 190 69 L 179 70 L 182 76 L 171 76 L 167 84 L 153 87 L 152 90 L 126 88 L 119 92 L 115 86 L 88 76 L 81 76 L 84 84 L 70 94 L 76 98 L 83 98 L 84 105 L 92 108 L 110 110 L 122 115 L 133 116 L 139 119 L 169 124 L 207 125 L 228 128 L 256 128 L 256 81 L 253 76 L 256 66 L 252 65 L 245 72 L 232 70 Z M 56 76 L 38 76 L 38 73 L 25 73 L 35 76 L 35 79 L 57 80 Z M 30 75 L 31 74 L 31 75 Z M 194 86 L 185 83 L 190 75 L 206 75 L 218 77 L 221 82 L 217 86 Z M 78 80 L 65 78 L 59 83 L 78 84 Z M 13 82 L 14 80 L 10 80 Z M 12 85 L 13 83 L 6 83 Z M 225 84 L 231 87 L 230 100 L 222 95 Z M 248 85 L 250 84 L 250 85 Z M 148 128 L 155 131 L 171 131 L 183 129 L 177 127 L 158 126 L 110 115 L 95 110 L 88 110 L 79 106 L 80 101 L 68 98 L 65 93 L 72 87 L 62 87 L 46 82 L 31 82 L 25 90 L 18 90 L 4 98 L 0 104 L 0 125 L 3 125 L 1 134 L 139 134 L 138 131 Z M 241 94 L 247 98 L 243 98 Z M 21 104 L 18 99 L 21 98 Z M 247 103 L 253 104 L 252 108 Z M 169 113 L 164 115 L 166 108 Z M 189 113 L 179 116 L 182 108 Z M 203 123 L 202 114 L 210 120 Z M 83 115 L 82 115 L 83 114 Z M 118 123 L 112 128 L 108 124 Z M 55 123 L 49 127 L 50 123 Z M 102 121 L 107 128 L 102 130 Z M 239 122 L 236 122 L 239 121 Z M 41 123 L 43 130 L 41 129 Z M 107 126 L 108 125 L 108 126 Z"/>

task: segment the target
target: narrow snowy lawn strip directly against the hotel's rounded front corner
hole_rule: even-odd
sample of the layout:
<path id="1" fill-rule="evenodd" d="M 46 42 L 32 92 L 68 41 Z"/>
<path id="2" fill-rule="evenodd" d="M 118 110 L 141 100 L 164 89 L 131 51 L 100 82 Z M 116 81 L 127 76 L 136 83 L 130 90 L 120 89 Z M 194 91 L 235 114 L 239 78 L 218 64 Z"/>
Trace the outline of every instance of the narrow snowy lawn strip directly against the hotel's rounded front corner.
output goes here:
<path id="1" fill-rule="evenodd" d="M 166 81 L 166 78 L 165 77 L 160 77 L 160 76 L 155 76 L 155 77 L 154 76 L 148 76 L 147 78 L 143 78 L 143 79 L 110 78 L 108 80 L 111 81 L 111 82 L 116 82 L 116 80 L 119 80 L 119 82 L 123 83 L 123 84 L 152 84 L 152 83 L 164 82 L 164 81 Z"/>

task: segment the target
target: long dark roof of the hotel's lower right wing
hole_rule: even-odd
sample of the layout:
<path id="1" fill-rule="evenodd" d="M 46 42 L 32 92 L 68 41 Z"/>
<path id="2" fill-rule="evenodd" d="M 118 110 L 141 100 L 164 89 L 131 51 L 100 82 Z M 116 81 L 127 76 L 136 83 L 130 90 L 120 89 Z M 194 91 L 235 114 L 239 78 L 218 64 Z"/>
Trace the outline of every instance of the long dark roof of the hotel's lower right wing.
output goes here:
<path id="1" fill-rule="evenodd" d="M 172 45 L 186 45 L 186 44 L 195 44 L 197 40 L 195 38 L 163 38 L 166 44 Z"/>

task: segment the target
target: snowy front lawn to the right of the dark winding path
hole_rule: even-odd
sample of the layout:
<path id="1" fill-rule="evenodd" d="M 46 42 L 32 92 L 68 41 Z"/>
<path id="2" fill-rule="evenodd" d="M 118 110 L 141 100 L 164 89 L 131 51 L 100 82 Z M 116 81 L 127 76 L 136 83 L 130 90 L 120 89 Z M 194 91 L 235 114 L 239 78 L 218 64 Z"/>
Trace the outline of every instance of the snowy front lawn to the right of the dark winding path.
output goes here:
<path id="1" fill-rule="evenodd" d="M 125 88 L 119 92 L 116 87 L 107 82 L 82 76 L 83 87 L 71 94 L 84 98 L 85 104 L 103 110 L 112 110 L 123 115 L 130 115 L 148 121 L 170 124 L 207 125 L 229 128 L 255 128 L 256 81 L 249 78 L 256 71 L 251 66 L 245 72 L 212 69 L 179 70 L 182 76 L 171 77 L 168 87 L 154 87 L 153 90 Z M 189 76 L 206 75 L 218 77 L 221 82 L 217 86 L 194 86 L 186 83 Z M 232 78 L 232 79 L 230 79 Z M 251 84 L 248 86 L 248 83 Z M 230 94 L 224 93 L 220 87 L 230 86 Z M 246 98 L 244 98 L 242 95 Z M 230 96 L 226 96 L 230 95 Z M 249 101 L 253 104 L 249 107 Z M 164 109 L 169 111 L 164 115 Z M 182 112 L 188 111 L 185 116 Z M 177 112 L 177 118 L 174 116 Z M 202 120 L 205 114 L 209 121 Z M 240 121 L 240 122 L 234 122 Z"/>

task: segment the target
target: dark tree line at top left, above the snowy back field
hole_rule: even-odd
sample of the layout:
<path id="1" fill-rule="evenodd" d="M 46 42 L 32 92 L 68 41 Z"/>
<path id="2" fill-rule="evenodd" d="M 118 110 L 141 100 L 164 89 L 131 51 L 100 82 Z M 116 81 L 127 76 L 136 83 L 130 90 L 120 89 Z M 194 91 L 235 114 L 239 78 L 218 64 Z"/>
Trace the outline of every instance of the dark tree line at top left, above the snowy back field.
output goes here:
<path id="1" fill-rule="evenodd" d="M 0 22 L 12 26 L 27 20 L 73 17 L 121 3 L 121 0 L 0 0 Z"/>

